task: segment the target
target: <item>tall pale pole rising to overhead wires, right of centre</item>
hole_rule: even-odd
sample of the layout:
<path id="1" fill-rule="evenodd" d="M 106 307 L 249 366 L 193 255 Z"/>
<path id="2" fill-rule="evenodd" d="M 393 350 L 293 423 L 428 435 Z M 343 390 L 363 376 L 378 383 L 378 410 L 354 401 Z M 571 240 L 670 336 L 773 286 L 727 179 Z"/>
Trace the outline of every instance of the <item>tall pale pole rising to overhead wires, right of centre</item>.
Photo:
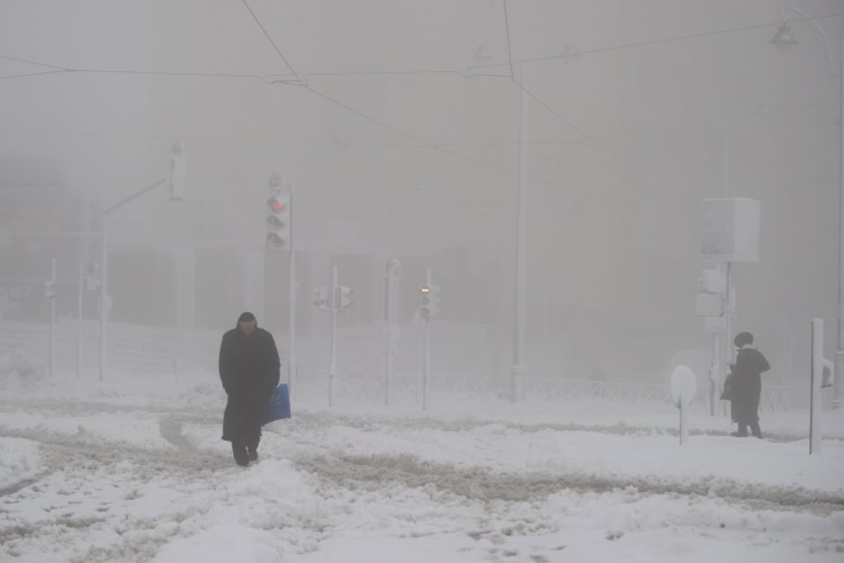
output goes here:
<path id="1" fill-rule="evenodd" d="M 518 210 L 516 221 L 516 303 L 513 326 L 513 365 L 510 371 L 510 401 L 516 403 L 518 389 L 525 376 L 525 300 L 527 292 L 527 105 L 524 90 L 527 89 L 527 67 L 519 64 L 522 88 L 519 89 L 519 179 Z"/>

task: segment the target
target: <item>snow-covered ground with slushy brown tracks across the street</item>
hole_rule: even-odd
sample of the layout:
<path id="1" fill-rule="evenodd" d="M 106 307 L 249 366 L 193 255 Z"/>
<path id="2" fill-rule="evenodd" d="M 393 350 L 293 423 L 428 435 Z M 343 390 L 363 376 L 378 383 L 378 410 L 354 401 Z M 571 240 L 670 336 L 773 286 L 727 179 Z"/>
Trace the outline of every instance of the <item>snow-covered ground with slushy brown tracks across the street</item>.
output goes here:
<path id="1" fill-rule="evenodd" d="M 844 413 L 734 438 L 668 404 L 311 392 L 221 441 L 214 374 L 0 381 L 0 560 L 841 561 Z"/>

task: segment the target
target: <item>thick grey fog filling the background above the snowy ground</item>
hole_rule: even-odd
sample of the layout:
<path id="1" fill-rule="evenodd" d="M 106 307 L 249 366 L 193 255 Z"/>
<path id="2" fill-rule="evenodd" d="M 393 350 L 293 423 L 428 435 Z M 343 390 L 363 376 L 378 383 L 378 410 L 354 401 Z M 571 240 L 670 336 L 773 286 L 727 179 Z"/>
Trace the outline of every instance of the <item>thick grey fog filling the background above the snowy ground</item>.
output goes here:
<path id="1" fill-rule="evenodd" d="M 787 6 L 783 53 L 769 41 Z M 265 252 L 276 173 L 295 186 L 303 365 L 327 355 L 311 293 L 337 266 L 354 290 L 341 375 L 361 347 L 360 369 L 379 369 L 395 257 L 397 369 L 415 369 L 430 267 L 433 370 L 506 376 L 521 179 L 527 376 L 661 382 L 711 349 L 701 200 L 752 198 L 759 261 L 733 264 L 732 330 L 755 334 L 768 382 L 803 382 L 813 317 L 836 349 L 842 35 L 841 0 L 7 0 L 3 322 L 50 321 L 52 257 L 73 322 L 103 211 L 165 179 L 181 141 L 185 200 L 162 186 L 109 216 L 110 324 L 221 332 L 250 310 L 284 351 L 288 255 Z"/>

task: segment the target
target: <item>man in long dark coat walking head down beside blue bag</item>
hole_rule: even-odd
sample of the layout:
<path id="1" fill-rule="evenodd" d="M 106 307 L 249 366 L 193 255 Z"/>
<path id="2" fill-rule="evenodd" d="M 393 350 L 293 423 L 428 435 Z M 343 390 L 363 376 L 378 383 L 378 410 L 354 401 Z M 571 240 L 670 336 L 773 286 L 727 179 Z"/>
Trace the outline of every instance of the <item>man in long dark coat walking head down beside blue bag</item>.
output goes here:
<path id="1" fill-rule="evenodd" d="M 280 366 L 273 335 L 257 327 L 252 313 L 243 313 L 237 328 L 223 335 L 219 376 L 229 396 L 223 414 L 223 440 L 231 442 L 240 465 L 257 459 L 261 420 L 273 389 L 279 385 Z"/>

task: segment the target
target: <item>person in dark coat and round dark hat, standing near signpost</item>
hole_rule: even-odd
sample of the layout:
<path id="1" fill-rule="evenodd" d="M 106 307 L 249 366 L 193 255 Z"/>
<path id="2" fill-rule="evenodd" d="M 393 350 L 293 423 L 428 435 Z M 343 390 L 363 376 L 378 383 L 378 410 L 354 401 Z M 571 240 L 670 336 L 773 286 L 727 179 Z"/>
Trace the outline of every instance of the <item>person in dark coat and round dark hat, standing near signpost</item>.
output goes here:
<path id="1" fill-rule="evenodd" d="M 758 349 L 750 348 L 753 335 L 739 333 L 734 339 L 738 347 L 730 397 L 730 414 L 738 424 L 738 436 L 747 436 L 748 426 L 757 438 L 762 437 L 759 427 L 759 402 L 762 394 L 761 374 L 771 369 L 771 364 Z"/>

